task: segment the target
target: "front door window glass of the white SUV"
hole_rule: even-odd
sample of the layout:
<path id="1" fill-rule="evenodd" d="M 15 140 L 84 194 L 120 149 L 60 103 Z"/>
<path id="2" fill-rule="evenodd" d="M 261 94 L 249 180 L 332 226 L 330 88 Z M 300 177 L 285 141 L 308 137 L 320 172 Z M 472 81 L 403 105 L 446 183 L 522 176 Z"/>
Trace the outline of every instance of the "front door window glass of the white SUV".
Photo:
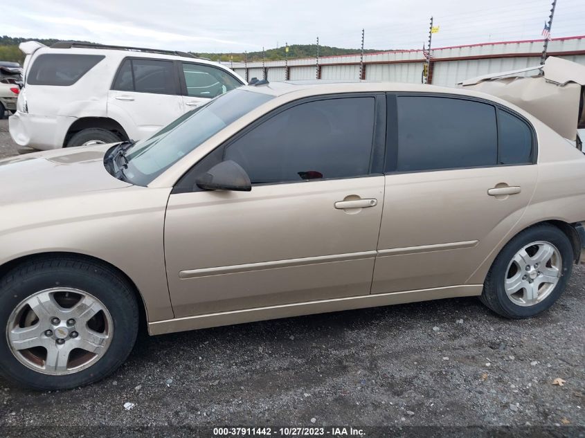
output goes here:
<path id="1" fill-rule="evenodd" d="M 187 95 L 197 98 L 215 98 L 242 85 L 225 71 L 200 64 L 183 63 L 183 75 Z"/>

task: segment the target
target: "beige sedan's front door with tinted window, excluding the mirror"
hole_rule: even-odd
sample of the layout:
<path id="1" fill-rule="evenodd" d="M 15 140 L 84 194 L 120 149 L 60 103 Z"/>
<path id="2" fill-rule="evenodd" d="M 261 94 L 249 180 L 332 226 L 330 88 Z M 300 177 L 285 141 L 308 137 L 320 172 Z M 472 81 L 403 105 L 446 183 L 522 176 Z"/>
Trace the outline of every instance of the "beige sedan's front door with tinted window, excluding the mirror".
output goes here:
<path id="1" fill-rule="evenodd" d="M 195 165 L 197 175 L 235 161 L 252 190 L 171 194 L 165 257 L 175 316 L 370 293 L 384 199 L 384 102 L 384 95 L 296 102 Z"/>

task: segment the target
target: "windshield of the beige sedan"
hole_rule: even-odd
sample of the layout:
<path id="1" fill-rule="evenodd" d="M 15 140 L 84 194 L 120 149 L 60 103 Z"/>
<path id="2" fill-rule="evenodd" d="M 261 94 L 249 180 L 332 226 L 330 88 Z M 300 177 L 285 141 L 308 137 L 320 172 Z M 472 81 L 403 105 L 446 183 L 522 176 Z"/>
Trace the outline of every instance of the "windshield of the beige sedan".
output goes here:
<path id="1" fill-rule="evenodd" d="M 179 117 L 127 151 L 125 179 L 148 185 L 193 149 L 273 96 L 236 89 Z"/>

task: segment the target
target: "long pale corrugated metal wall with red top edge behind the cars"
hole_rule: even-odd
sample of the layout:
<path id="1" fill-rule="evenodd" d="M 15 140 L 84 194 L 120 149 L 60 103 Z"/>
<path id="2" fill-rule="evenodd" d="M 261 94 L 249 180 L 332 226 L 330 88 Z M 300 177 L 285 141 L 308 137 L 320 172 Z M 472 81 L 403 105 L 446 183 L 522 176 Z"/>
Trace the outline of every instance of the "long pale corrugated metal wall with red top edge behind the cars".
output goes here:
<path id="1" fill-rule="evenodd" d="M 478 75 L 536 66 L 540 62 L 542 46 L 542 40 L 534 40 L 435 48 L 432 51 L 432 83 L 455 86 L 457 82 Z M 548 44 L 548 53 L 585 65 L 585 37 L 552 39 Z M 319 59 L 321 79 L 357 80 L 359 62 L 359 55 L 322 57 Z M 368 53 L 363 56 L 366 80 L 420 83 L 423 62 L 420 50 Z M 290 80 L 316 79 L 314 58 L 289 60 L 288 65 Z M 237 64 L 234 70 L 245 77 L 243 66 L 242 63 Z M 285 80 L 284 61 L 266 62 L 265 66 L 269 80 Z M 248 67 L 248 80 L 252 77 L 262 79 L 262 63 L 250 62 Z"/>

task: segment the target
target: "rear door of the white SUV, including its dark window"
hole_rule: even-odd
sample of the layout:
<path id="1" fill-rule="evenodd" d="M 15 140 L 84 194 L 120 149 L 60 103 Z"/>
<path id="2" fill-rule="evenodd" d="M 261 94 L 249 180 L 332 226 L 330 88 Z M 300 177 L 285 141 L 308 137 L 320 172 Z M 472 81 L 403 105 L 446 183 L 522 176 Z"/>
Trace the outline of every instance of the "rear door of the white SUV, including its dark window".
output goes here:
<path id="1" fill-rule="evenodd" d="M 179 89 L 171 60 L 126 58 L 108 93 L 107 111 L 131 138 L 141 140 L 183 114 Z"/>

